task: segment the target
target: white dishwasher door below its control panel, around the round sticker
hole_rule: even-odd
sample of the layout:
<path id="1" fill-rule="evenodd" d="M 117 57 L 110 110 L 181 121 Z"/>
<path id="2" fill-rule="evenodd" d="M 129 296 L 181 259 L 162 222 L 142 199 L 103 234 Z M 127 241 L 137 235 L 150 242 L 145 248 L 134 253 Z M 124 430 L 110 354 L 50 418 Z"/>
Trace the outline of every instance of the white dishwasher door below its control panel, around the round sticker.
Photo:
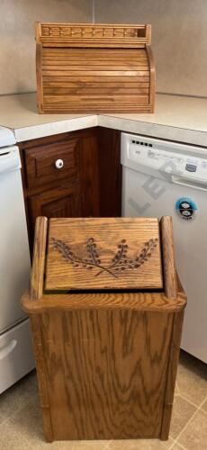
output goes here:
<path id="1" fill-rule="evenodd" d="M 175 211 L 175 202 L 184 196 L 197 204 L 194 220 Z M 181 347 L 207 363 L 207 193 L 123 167 L 122 215 L 173 217 L 176 266 L 188 300 Z"/>

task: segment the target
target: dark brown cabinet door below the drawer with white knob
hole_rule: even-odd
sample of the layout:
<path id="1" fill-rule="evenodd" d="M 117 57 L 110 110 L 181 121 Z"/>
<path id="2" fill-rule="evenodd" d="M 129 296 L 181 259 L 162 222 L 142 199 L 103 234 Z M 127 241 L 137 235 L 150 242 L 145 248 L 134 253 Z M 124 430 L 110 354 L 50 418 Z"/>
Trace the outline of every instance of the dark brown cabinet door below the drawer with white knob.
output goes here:
<path id="1" fill-rule="evenodd" d="M 79 184 L 64 184 L 55 189 L 31 195 L 28 200 L 32 230 L 38 216 L 48 218 L 81 216 Z"/>

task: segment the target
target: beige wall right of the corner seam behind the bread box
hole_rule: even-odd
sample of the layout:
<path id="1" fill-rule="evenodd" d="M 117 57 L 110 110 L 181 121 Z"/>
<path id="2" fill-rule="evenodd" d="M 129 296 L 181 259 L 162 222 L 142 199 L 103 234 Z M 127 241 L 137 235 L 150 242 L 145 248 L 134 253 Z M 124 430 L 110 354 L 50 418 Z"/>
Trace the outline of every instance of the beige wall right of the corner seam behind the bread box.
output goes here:
<path id="1" fill-rule="evenodd" d="M 97 23 L 151 23 L 157 91 L 207 96 L 207 0 L 95 0 Z"/>

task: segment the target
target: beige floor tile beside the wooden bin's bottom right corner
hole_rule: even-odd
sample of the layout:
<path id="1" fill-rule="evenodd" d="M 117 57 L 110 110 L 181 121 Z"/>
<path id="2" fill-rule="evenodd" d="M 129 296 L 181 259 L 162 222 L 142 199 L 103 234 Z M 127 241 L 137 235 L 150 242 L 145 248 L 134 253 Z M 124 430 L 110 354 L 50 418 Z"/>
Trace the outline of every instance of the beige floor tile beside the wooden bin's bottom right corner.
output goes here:
<path id="1" fill-rule="evenodd" d="M 185 401 L 180 395 L 175 395 L 169 435 L 174 439 L 192 418 L 196 407 Z"/>

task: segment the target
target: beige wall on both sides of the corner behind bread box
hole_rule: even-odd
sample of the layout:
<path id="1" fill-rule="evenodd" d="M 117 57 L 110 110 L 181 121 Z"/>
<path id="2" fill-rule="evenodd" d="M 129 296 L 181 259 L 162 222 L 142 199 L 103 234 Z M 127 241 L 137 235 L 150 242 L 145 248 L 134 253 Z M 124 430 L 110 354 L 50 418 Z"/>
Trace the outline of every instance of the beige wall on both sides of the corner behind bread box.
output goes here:
<path id="1" fill-rule="evenodd" d="M 0 94 L 36 89 L 33 23 L 152 23 L 157 91 L 207 96 L 207 0 L 0 0 Z"/>

